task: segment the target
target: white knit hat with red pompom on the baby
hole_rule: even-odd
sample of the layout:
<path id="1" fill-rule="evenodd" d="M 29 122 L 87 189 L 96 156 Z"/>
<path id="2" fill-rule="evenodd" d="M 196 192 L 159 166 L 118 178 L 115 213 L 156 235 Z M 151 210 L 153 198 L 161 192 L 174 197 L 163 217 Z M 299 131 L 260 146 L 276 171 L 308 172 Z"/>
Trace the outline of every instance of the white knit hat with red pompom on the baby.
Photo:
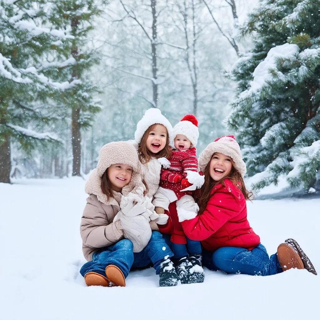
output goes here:
<path id="1" fill-rule="evenodd" d="M 172 146 L 174 146 L 174 139 L 177 134 L 183 134 L 192 143 L 192 147 L 196 147 L 199 138 L 198 120 L 194 115 L 184 116 L 172 129 Z"/>

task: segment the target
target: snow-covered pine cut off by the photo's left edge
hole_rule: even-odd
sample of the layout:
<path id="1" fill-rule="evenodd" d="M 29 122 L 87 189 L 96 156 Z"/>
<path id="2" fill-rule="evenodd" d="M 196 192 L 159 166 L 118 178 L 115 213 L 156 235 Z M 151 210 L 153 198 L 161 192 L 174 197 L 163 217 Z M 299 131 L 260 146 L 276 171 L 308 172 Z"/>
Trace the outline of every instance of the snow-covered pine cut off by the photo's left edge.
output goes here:
<path id="1" fill-rule="evenodd" d="M 50 7 L 48 1 L 0 1 L 0 182 L 10 182 L 12 143 L 30 153 L 60 141 L 37 132 L 55 118 L 46 102 L 61 90 L 40 70 L 52 42 L 66 37 L 45 24 Z"/>

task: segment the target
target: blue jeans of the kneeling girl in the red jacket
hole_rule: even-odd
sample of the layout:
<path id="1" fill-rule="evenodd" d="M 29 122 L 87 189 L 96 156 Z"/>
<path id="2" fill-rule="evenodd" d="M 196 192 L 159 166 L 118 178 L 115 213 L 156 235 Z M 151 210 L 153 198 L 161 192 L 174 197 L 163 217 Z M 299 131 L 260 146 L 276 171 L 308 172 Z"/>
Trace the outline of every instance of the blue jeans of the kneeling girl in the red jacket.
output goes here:
<path id="1" fill-rule="evenodd" d="M 210 270 L 251 276 L 270 276 L 283 272 L 277 254 L 269 258 L 262 244 L 258 244 L 252 250 L 222 247 L 212 253 L 203 249 L 202 263 Z"/>

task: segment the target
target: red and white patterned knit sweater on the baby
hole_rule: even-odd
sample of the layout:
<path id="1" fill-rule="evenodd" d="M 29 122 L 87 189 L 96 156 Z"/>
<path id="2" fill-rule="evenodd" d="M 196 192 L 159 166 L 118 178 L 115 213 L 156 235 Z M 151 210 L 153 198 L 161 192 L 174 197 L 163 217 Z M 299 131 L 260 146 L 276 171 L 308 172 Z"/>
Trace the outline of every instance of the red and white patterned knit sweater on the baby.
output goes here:
<path id="1" fill-rule="evenodd" d="M 190 148 L 185 151 L 173 150 L 168 160 L 171 165 L 168 169 L 161 170 L 160 187 L 174 191 L 178 199 L 184 195 L 192 195 L 194 191 L 180 192 L 181 189 L 185 188 L 181 186 L 181 179 L 187 176 L 187 170 L 198 171 L 196 148 Z"/>

